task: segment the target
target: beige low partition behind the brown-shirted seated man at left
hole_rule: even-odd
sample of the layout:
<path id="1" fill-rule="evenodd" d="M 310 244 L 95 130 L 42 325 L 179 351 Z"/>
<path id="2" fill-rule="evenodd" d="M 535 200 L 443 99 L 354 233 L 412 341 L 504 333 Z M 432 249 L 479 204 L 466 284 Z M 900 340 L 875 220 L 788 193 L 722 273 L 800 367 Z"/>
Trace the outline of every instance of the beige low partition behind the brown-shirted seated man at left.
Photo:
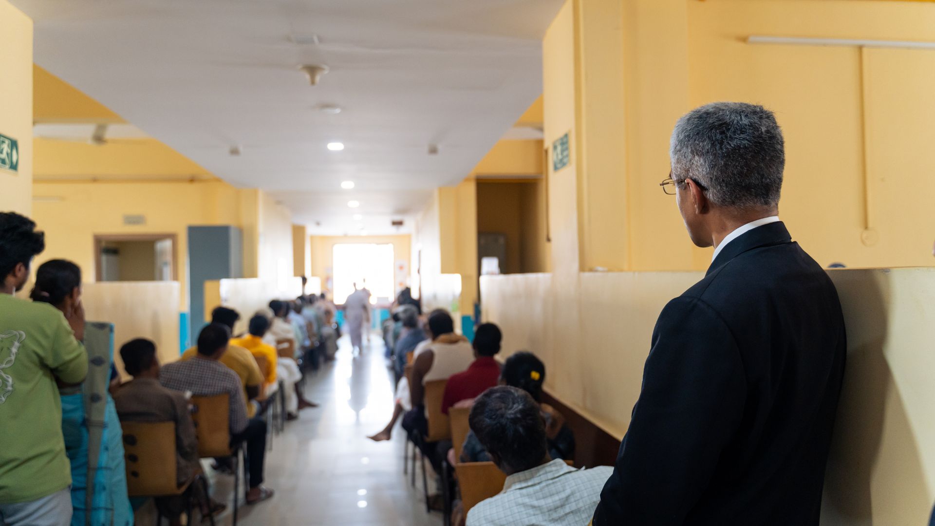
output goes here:
<path id="1" fill-rule="evenodd" d="M 120 348 L 135 338 L 156 343 L 159 361 L 179 359 L 179 282 L 112 282 L 81 285 L 89 321 L 114 324 L 114 365 L 123 378 Z"/>

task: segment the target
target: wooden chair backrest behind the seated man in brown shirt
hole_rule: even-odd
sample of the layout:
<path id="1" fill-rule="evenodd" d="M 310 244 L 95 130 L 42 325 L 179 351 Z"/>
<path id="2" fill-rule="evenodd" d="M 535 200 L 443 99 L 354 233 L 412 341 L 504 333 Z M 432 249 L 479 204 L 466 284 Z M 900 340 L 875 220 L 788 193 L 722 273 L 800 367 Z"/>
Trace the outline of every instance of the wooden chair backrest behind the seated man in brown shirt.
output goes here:
<path id="1" fill-rule="evenodd" d="M 175 422 L 121 422 L 126 489 L 131 497 L 180 492 Z"/>

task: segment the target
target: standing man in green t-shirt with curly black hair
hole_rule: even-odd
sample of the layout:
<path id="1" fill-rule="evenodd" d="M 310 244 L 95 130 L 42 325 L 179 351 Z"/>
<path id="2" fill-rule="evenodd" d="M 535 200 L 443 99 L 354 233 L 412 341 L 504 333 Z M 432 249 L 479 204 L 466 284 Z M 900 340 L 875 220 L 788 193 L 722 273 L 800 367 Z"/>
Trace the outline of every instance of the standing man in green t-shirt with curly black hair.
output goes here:
<path id="1" fill-rule="evenodd" d="M 36 223 L 0 212 L 0 523 L 59 526 L 71 520 L 71 471 L 56 379 L 88 373 L 80 302 L 68 319 L 49 303 L 13 296 L 45 249 Z"/>

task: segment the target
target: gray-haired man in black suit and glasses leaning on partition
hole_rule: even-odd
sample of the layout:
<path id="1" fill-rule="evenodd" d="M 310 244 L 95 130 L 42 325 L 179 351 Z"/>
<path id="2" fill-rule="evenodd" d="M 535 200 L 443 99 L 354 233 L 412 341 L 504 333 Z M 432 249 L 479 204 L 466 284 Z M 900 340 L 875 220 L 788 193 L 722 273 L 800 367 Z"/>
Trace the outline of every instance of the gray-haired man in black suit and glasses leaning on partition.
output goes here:
<path id="1" fill-rule="evenodd" d="M 817 525 L 846 349 L 837 291 L 779 221 L 772 112 L 675 126 L 670 179 L 704 279 L 659 314 L 595 526 Z"/>

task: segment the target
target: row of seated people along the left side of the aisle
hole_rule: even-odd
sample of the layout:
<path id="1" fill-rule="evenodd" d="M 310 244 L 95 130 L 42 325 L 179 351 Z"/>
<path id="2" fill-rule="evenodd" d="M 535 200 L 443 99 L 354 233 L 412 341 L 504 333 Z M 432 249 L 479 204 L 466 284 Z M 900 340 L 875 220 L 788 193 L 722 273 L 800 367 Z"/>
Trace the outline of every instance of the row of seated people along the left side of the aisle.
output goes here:
<path id="1" fill-rule="evenodd" d="M 314 363 L 322 349 L 316 339 L 324 332 L 325 315 L 314 309 L 315 297 L 295 301 L 273 300 L 268 310 L 254 314 L 246 334 L 231 337 L 240 315 L 217 307 L 211 324 L 202 329 L 198 344 L 186 350 L 179 361 L 160 367 L 154 343 L 137 339 L 121 348 L 124 368 L 134 379 L 114 393 L 122 421 L 175 423 L 177 433 L 177 476 L 183 484 L 200 468 L 193 420 L 187 411 L 191 397 L 228 395 L 231 445 L 245 446 L 249 489 L 247 504 L 273 495 L 263 486 L 266 452 L 266 411 L 282 391 L 286 419 L 298 411 L 317 406 L 302 396 L 299 364 Z M 326 304 L 321 301 L 321 304 Z M 309 308 L 312 307 L 312 308 Z M 323 309 L 324 310 L 324 309 Z M 325 310 L 325 313 L 327 311 Z M 215 459 L 214 468 L 233 474 L 231 458 Z M 193 486 L 197 491 L 197 487 Z M 204 496 L 195 495 L 208 503 Z M 160 512 L 180 523 L 184 496 L 157 499 Z M 205 504 L 203 513 L 217 513 L 223 505 Z"/>

